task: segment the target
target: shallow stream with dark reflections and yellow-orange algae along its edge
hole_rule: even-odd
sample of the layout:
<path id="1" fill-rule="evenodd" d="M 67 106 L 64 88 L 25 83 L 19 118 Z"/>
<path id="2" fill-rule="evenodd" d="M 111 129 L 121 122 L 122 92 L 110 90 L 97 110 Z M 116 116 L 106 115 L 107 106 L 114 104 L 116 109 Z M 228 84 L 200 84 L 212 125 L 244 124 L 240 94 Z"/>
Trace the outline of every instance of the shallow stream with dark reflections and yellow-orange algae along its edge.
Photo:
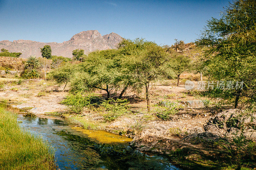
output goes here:
<path id="1" fill-rule="evenodd" d="M 130 138 L 75 127 L 57 116 L 24 115 L 18 108 L 5 107 L 19 113 L 17 121 L 22 129 L 42 137 L 54 148 L 57 170 L 180 170 L 162 155 L 133 149 Z"/>

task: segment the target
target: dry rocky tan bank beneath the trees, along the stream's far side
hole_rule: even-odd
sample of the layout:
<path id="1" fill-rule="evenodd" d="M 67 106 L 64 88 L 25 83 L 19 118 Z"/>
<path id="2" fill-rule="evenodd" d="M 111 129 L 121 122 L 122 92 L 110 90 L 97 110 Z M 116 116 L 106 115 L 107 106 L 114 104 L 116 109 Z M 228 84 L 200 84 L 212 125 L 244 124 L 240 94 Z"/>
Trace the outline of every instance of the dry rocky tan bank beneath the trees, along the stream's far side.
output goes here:
<path id="1" fill-rule="evenodd" d="M 182 169 L 235 169 L 235 166 L 230 165 L 234 163 L 233 156 L 237 155 L 229 154 L 223 149 L 222 143 L 218 143 L 219 139 L 232 136 L 232 131 L 227 133 L 227 128 L 221 129 L 215 124 L 209 124 L 211 118 L 221 113 L 221 109 L 229 107 L 205 107 L 203 97 L 184 92 L 184 87 L 158 84 L 150 86 L 152 110 L 162 107 L 159 102 L 163 105 L 175 103 L 178 112 L 170 120 L 157 117 L 155 111 L 147 113 L 146 101 L 127 89 L 124 98 L 130 101 L 129 113 L 121 115 L 115 121 L 106 122 L 102 113 L 92 108 L 85 108 L 81 114 L 70 113 L 67 106 L 59 104 L 68 95 L 62 89 L 63 86 L 56 87 L 51 81 L 24 80 L 20 85 L 12 82 L 5 84 L 0 96 L 3 96 L 2 100 L 11 102 L 13 107 L 26 109 L 34 114 L 58 115 L 68 123 L 84 129 L 104 130 L 130 137 L 133 139 L 133 148 L 141 152 L 167 155 L 174 165 Z M 97 93 L 102 97 L 106 95 L 101 91 Z M 225 121 L 232 118 L 229 113 L 231 112 L 224 113 L 229 115 Z M 250 136 L 255 133 L 253 129 L 246 132 Z M 216 138 L 216 135 L 221 138 Z M 253 161 L 247 165 L 255 167 Z"/>

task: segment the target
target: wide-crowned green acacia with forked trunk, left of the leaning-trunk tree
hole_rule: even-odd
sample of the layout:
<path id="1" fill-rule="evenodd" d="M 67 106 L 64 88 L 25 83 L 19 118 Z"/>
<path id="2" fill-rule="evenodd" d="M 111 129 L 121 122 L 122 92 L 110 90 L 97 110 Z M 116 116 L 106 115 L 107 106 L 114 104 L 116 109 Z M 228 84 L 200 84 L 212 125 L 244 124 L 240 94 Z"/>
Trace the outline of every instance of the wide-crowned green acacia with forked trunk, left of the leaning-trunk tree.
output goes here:
<path id="1" fill-rule="evenodd" d="M 119 86 L 118 63 L 115 62 L 116 50 L 102 50 L 90 53 L 85 61 L 78 65 L 79 76 L 74 76 L 71 81 L 72 91 L 94 91 L 96 89 L 110 93 Z"/>

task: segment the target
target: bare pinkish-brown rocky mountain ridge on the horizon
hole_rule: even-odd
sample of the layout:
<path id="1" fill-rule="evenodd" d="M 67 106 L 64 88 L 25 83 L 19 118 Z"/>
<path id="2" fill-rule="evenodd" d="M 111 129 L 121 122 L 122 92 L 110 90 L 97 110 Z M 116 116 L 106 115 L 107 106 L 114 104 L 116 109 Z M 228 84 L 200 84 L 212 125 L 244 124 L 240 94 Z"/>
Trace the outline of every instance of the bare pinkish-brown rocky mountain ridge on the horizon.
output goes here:
<path id="1" fill-rule="evenodd" d="M 122 41 L 122 37 L 116 33 L 110 33 L 101 36 L 97 30 L 82 31 L 71 37 L 70 40 L 62 43 L 57 42 L 37 42 L 30 40 L 8 40 L 0 41 L 0 48 L 5 48 L 9 52 L 21 52 L 21 58 L 27 58 L 29 55 L 41 56 L 40 48 L 44 45 L 50 45 L 52 55 L 72 57 L 72 51 L 77 48 L 84 49 L 88 54 L 94 50 L 104 50 L 116 48 L 116 45 Z"/>

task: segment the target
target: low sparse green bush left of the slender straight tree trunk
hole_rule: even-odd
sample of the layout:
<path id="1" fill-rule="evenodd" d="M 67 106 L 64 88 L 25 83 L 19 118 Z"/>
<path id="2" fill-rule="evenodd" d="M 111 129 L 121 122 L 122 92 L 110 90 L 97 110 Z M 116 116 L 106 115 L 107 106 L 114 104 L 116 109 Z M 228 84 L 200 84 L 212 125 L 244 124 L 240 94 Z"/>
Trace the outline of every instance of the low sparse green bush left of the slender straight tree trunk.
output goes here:
<path id="1" fill-rule="evenodd" d="M 105 121 L 112 122 L 127 112 L 127 104 L 129 104 L 127 99 L 103 100 L 101 101 L 99 110 L 103 111 L 102 116 Z"/>

